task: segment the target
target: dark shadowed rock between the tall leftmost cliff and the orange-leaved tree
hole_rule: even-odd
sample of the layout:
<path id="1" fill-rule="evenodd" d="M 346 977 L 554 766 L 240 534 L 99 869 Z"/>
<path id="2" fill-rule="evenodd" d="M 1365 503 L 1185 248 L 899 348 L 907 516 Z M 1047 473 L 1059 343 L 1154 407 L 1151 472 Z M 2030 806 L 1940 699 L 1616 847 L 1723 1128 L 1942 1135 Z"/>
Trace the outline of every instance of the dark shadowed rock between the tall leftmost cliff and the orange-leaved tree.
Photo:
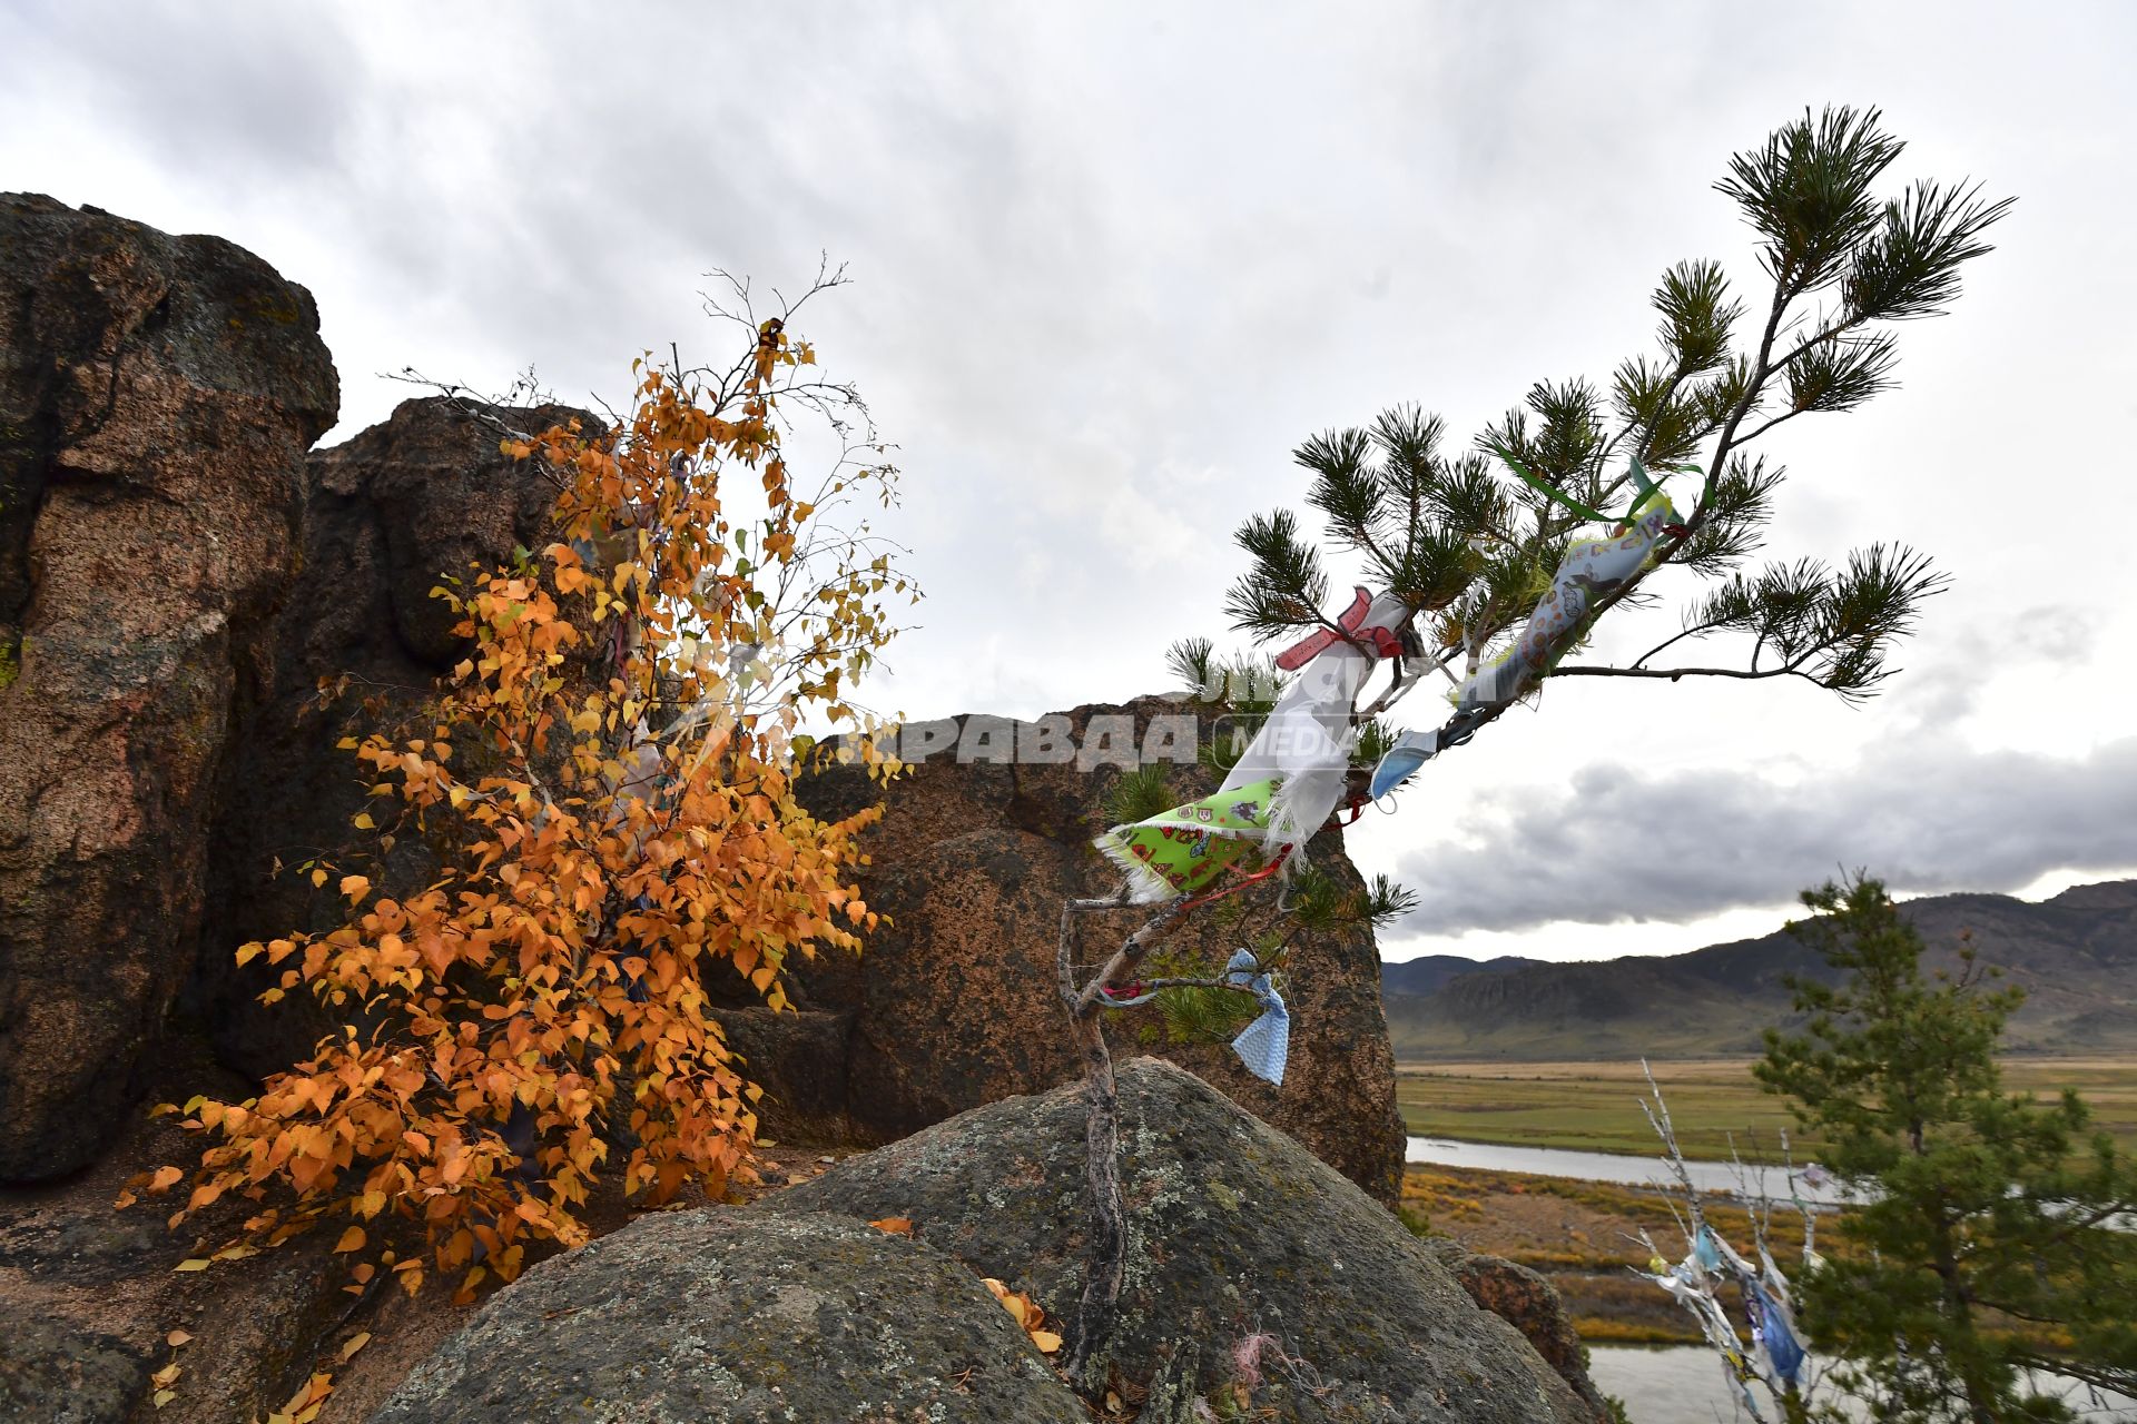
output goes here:
<path id="1" fill-rule="evenodd" d="M 596 421 L 568 406 L 410 399 L 383 425 L 306 461 L 299 589 L 267 630 L 269 683 L 229 758 L 203 952 L 186 991 L 186 1008 L 231 1067 L 265 1078 L 306 1057 L 329 1027 L 303 995 L 261 1008 L 254 995 L 271 971 L 265 961 L 239 969 L 233 950 L 340 924 L 340 899 L 288 873 L 318 854 L 376 852 L 370 835 L 350 828 L 374 777 L 338 743 L 406 726 L 466 655 L 453 634 L 457 615 L 432 589 L 509 568 L 519 551 L 551 542 L 558 491 L 536 461 L 502 455 L 498 431 L 573 418 L 590 429 Z M 336 690 L 323 696 L 323 681 Z M 430 882 L 434 865 L 410 835 L 368 869 L 385 892 L 406 895 Z"/>

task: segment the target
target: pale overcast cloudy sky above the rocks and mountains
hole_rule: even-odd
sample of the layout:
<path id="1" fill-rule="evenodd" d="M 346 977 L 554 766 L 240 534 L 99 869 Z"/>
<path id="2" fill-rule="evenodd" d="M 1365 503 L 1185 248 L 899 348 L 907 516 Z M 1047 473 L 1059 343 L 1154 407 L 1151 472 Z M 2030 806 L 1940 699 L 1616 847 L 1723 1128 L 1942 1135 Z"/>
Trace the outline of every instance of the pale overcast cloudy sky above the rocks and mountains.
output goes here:
<path id="1" fill-rule="evenodd" d="M 310 286 L 329 440 L 406 365 L 620 395 L 639 350 L 722 350 L 703 273 L 829 252 L 855 284 L 806 333 L 902 446 L 930 591 L 878 700 L 1036 715 L 1225 632 L 1231 529 L 1297 504 L 1301 438 L 1605 378 L 1673 260 L 1754 286 L 1727 156 L 1878 105 L 1896 184 L 2019 196 L 1955 314 L 1904 329 L 1898 393 L 1763 442 L 1774 555 L 1904 538 L 1951 572 L 1906 673 L 1863 709 L 1554 685 L 1351 835 L 1423 901 L 1391 959 L 1586 959 L 1765 933 L 1838 867 L 2137 873 L 2133 60 L 2116 2 L 0 0 L 0 188 Z M 1598 655 L 1675 630 L 1620 617 Z"/>

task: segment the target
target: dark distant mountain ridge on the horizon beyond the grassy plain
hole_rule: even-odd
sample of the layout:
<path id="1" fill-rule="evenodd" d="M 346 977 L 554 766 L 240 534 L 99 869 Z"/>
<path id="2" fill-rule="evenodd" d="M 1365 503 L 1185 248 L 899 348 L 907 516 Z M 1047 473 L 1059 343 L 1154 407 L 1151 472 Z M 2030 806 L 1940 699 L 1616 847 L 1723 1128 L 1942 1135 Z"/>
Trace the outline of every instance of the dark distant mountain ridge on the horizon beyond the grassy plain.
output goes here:
<path id="1" fill-rule="evenodd" d="M 1981 963 L 2026 991 L 2013 1050 L 2137 1050 L 2137 880 L 2073 886 L 2041 903 L 1932 895 L 1904 909 L 1930 944 L 1930 965 L 1953 963 L 1960 933 L 1972 931 Z M 1776 931 L 1609 961 L 1432 954 L 1383 965 L 1381 988 L 1398 1059 L 1690 1057 L 1757 1053 L 1763 1029 L 1793 1020 L 1782 984 L 1791 974 L 1823 976 L 1825 965 Z"/>

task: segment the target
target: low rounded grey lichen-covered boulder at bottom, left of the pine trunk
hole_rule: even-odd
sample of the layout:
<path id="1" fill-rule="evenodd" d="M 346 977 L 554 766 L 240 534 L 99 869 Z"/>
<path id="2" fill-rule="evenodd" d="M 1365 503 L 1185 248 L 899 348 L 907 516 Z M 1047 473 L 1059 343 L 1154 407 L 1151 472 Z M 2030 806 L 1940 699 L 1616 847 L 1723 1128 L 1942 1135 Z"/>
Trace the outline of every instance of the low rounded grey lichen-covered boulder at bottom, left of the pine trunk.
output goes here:
<path id="1" fill-rule="evenodd" d="M 641 1217 L 498 1292 L 372 1424 L 1081 1424 L 979 1277 L 831 1215 Z"/>

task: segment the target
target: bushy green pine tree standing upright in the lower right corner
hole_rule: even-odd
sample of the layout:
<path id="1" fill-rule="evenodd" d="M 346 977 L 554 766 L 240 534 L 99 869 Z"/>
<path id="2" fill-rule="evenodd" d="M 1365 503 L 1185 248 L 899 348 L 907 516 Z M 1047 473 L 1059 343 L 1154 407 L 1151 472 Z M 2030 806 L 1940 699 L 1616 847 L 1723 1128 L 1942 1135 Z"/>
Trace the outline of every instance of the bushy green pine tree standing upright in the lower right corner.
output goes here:
<path id="1" fill-rule="evenodd" d="M 2137 1164 L 2073 1091 L 2007 1093 L 1996 1050 L 2024 991 L 1919 931 L 1857 875 L 1804 895 L 1791 933 L 1838 982 L 1791 980 L 1801 1031 L 1754 1067 L 1851 1189 L 1842 1247 L 1801 1281 L 1812 1343 L 1874 1418 L 2069 1418 L 2022 1371 L 2137 1394 Z"/>

